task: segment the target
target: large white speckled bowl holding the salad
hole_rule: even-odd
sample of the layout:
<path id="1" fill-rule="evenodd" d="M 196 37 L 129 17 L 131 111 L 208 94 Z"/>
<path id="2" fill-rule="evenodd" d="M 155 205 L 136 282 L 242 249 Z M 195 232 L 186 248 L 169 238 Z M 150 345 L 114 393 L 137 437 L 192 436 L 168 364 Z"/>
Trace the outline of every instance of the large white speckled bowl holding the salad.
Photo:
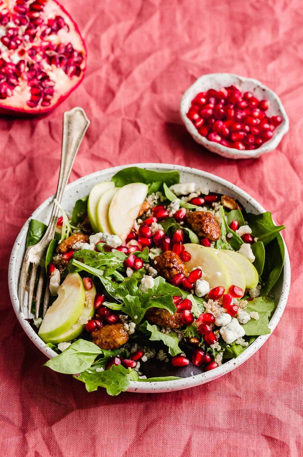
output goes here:
<path id="1" fill-rule="evenodd" d="M 205 187 L 207 186 L 210 191 L 220 191 L 227 193 L 233 198 L 239 199 L 241 204 L 246 208 L 248 212 L 255 214 L 264 213 L 265 209 L 256 202 L 252 197 L 250 197 L 245 191 L 239 189 L 239 187 L 234 186 L 234 184 L 226 181 L 218 176 L 206 173 L 205 171 L 197 170 L 194 168 L 183 167 L 179 165 L 168 165 L 168 164 L 135 164 L 136 166 L 151 169 L 151 170 L 179 170 L 181 175 L 182 182 L 192 182 L 195 181 L 199 185 Z M 111 180 L 112 176 L 117 173 L 117 171 L 122 170 L 128 166 L 118 166 L 114 168 L 109 168 L 107 170 L 97 171 L 88 176 L 78 179 L 77 181 L 72 182 L 67 186 L 65 191 L 63 207 L 71 212 L 74 202 L 79 197 L 84 197 L 90 192 L 92 186 L 100 181 Z M 46 346 L 46 344 L 41 340 L 38 335 L 34 332 L 30 324 L 24 318 L 24 315 L 19 310 L 19 300 L 17 295 L 18 282 L 20 269 L 22 265 L 22 260 L 25 252 L 25 242 L 27 236 L 28 224 L 31 218 L 40 220 L 41 222 L 48 223 L 50 214 L 51 214 L 51 202 L 53 201 L 53 196 L 49 197 L 45 202 L 43 202 L 35 211 L 32 213 L 30 218 L 27 219 L 27 222 L 21 228 L 21 232 L 18 235 L 16 242 L 13 246 L 11 252 L 11 259 L 9 265 L 9 289 L 11 295 L 11 301 L 13 308 L 15 310 L 16 316 L 32 342 L 43 352 L 48 358 L 55 357 L 57 354 L 52 349 Z M 290 287 L 290 263 L 287 248 L 285 246 L 285 260 L 284 268 L 282 275 L 279 278 L 279 281 L 276 283 L 274 288 L 274 294 L 276 296 L 276 311 L 273 314 L 269 327 L 273 331 L 279 322 L 283 310 L 287 302 L 287 296 Z M 222 376 L 225 373 L 234 370 L 234 368 L 241 365 L 245 360 L 249 359 L 267 340 L 270 335 L 259 336 L 245 351 L 236 359 L 232 359 L 222 366 L 215 368 L 212 371 L 198 374 L 192 377 L 182 378 L 175 381 L 165 381 L 165 382 L 152 382 L 152 383 L 142 383 L 142 382 L 132 382 L 128 388 L 129 392 L 146 392 L 146 393 L 156 393 L 156 392 L 168 392 L 171 390 L 180 390 L 186 389 L 188 387 L 197 386 L 199 384 L 208 383 L 217 377 Z"/>

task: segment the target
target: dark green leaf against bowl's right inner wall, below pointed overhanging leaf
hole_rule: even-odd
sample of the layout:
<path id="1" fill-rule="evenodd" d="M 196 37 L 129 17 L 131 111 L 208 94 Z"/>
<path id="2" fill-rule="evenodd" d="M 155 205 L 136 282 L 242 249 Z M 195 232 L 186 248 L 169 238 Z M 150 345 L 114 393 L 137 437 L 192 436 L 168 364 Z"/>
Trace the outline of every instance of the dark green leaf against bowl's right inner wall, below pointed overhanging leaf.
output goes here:
<path id="1" fill-rule="evenodd" d="M 284 264 L 284 244 L 280 234 L 265 248 L 265 263 L 262 273 L 264 287 L 262 295 L 267 295 L 278 280 Z"/>

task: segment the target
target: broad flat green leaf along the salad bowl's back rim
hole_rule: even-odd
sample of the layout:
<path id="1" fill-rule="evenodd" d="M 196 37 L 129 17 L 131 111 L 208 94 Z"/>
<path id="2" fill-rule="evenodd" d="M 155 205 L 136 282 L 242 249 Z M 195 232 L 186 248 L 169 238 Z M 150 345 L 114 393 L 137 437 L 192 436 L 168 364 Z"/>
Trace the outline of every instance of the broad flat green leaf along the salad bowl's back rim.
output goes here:
<path id="1" fill-rule="evenodd" d="M 155 183 L 157 186 L 159 183 L 164 182 L 167 186 L 172 186 L 173 184 L 178 184 L 180 182 L 179 171 L 153 171 L 153 170 L 144 170 L 144 168 L 138 167 L 128 167 L 120 170 L 112 177 L 116 187 L 122 187 L 131 182 L 143 182 L 144 184 L 154 184 L 154 189 L 156 189 Z M 155 190 L 151 192 L 154 192 Z M 157 188 L 156 191 L 158 191 Z M 149 192 L 149 193 L 151 193 Z"/>

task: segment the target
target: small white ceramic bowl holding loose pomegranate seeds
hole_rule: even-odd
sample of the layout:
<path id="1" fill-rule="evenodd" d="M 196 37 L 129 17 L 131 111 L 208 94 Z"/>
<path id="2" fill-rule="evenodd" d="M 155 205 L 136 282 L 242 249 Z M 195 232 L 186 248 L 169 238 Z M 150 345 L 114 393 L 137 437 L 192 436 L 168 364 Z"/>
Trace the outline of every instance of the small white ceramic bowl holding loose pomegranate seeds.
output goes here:
<path id="1" fill-rule="evenodd" d="M 281 116 L 283 119 L 282 123 L 275 128 L 273 137 L 262 144 L 258 149 L 253 149 L 251 151 L 245 149 L 244 151 L 239 151 L 239 149 L 228 148 L 222 144 L 208 141 L 206 137 L 202 137 L 202 135 L 198 133 L 197 128 L 186 116 L 186 113 L 191 107 L 191 101 L 199 92 L 206 92 L 208 89 L 219 90 L 221 87 L 228 87 L 230 85 L 239 86 L 242 92 L 252 92 L 259 100 L 269 100 L 270 107 L 266 111 L 266 115 L 268 117 Z M 282 140 L 283 135 L 285 135 L 289 129 L 289 120 L 282 105 L 282 101 L 273 90 L 269 89 L 258 80 L 245 78 L 232 73 L 204 74 L 198 78 L 183 94 L 180 103 L 180 114 L 186 129 L 197 143 L 202 144 L 205 148 L 216 154 L 222 155 L 222 157 L 227 159 L 256 159 L 260 157 L 260 155 L 275 149 Z"/>

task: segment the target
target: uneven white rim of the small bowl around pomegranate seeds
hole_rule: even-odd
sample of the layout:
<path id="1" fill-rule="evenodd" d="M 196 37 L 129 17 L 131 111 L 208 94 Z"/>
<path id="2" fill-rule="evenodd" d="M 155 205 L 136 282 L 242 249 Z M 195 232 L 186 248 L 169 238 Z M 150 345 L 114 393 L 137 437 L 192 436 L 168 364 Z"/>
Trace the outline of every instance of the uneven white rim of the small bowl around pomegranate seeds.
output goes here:
<path id="1" fill-rule="evenodd" d="M 200 135 L 200 133 L 198 133 L 198 131 L 195 128 L 195 126 L 192 124 L 192 122 L 186 116 L 186 112 L 185 112 L 185 109 L 183 108 L 183 105 L 184 105 L 185 101 L 187 100 L 187 97 L 189 96 L 189 94 L 191 92 L 191 89 L 193 87 L 195 87 L 195 86 L 198 87 L 202 80 L 205 80 L 205 79 L 211 78 L 211 77 L 218 77 L 218 76 L 222 76 L 223 77 L 223 76 L 226 76 L 226 75 L 232 76 L 234 78 L 238 78 L 242 82 L 243 81 L 249 81 L 252 84 L 259 86 L 261 89 L 266 90 L 267 92 L 269 92 L 271 94 L 271 96 L 273 98 L 275 98 L 275 100 L 276 100 L 276 102 L 277 102 L 277 104 L 279 106 L 279 109 L 281 111 L 281 117 L 283 118 L 283 121 L 279 126 L 279 130 L 276 131 L 276 133 L 274 133 L 273 137 L 270 140 L 266 141 L 266 143 L 264 143 L 258 149 L 253 149 L 253 150 L 244 149 L 243 151 L 239 151 L 238 149 L 228 148 L 227 146 L 223 146 L 223 144 L 215 143 L 213 141 L 209 141 L 206 137 L 202 137 L 202 135 Z M 288 116 L 286 114 L 286 111 L 285 111 L 285 108 L 284 108 L 284 106 L 282 104 L 282 101 L 280 100 L 280 97 L 276 94 L 276 92 L 274 92 L 268 86 L 266 86 L 263 83 L 261 83 L 261 81 L 259 81 L 259 80 L 256 80 L 254 78 L 248 78 L 246 76 L 240 76 L 239 74 L 235 74 L 235 73 L 207 73 L 207 74 L 203 74 L 202 76 L 197 78 L 197 80 L 186 89 L 186 91 L 184 92 L 183 96 L 181 97 L 181 101 L 180 101 L 180 116 L 181 116 L 182 121 L 185 124 L 185 127 L 186 127 L 187 131 L 191 134 L 192 138 L 198 144 L 202 144 L 202 146 L 206 147 L 207 149 L 212 148 L 211 149 L 212 152 L 215 152 L 213 149 L 217 149 L 217 152 L 215 152 L 216 154 L 223 155 L 223 157 L 228 157 L 230 159 L 248 159 L 248 158 L 254 158 L 254 157 L 257 158 L 257 157 L 260 157 L 260 155 L 262 155 L 262 154 L 265 154 L 267 152 L 271 152 L 273 149 L 276 149 L 278 144 L 281 142 L 283 136 L 289 130 L 289 119 L 288 119 Z M 199 141 L 197 141 L 196 138 Z M 237 157 L 235 157 L 235 156 L 237 156 Z"/>

